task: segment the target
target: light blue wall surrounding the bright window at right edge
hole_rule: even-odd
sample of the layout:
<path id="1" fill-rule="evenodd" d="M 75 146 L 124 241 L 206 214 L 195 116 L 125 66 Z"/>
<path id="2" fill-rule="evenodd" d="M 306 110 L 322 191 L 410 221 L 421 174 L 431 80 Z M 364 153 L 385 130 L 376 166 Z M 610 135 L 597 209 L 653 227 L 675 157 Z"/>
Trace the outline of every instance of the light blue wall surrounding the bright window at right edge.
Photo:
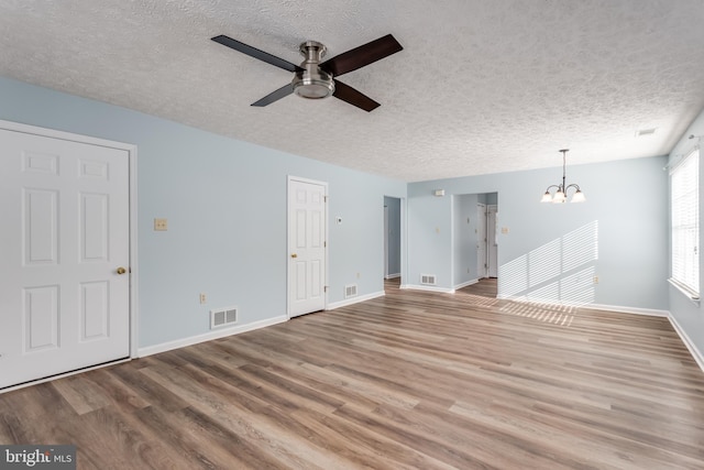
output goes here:
<path id="1" fill-rule="evenodd" d="M 704 135 L 704 111 L 675 145 L 670 154 L 670 163 L 676 163 L 682 156 L 689 154 L 697 143 L 704 142 L 704 139 L 689 139 L 690 135 Z M 702 208 L 704 208 L 704 164 L 702 164 L 702 153 L 700 152 L 700 247 L 702 245 L 701 228 L 704 227 L 704 210 Z M 704 266 L 704 255 L 700 250 L 700 272 L 702 266 Z M 704 276 L 700 275 L 700 294 L 702 293 L 704 293 Z M 672 285 L 669 286 L 669 296 L 672 317 L 700 351 L 700 354 L 704 356 L 704 309 Z"/>

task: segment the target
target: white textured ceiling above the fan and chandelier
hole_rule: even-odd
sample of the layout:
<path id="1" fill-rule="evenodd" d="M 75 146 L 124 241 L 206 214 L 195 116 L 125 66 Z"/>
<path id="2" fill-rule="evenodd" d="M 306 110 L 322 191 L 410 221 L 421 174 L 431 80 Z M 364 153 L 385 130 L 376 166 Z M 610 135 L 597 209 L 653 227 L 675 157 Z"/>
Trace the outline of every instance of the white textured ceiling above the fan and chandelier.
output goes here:
<path id="1" fill-rule="evenodd" d="M 292 74 L 210 41 L 298 64 L 388 33 L 404 51 L 343 77 L 371 113 L 251 107 Z M 476 175 L 669 153 L 704 107 L 704 1 L 2 0 L 0 75 L 408 182 Z"/>

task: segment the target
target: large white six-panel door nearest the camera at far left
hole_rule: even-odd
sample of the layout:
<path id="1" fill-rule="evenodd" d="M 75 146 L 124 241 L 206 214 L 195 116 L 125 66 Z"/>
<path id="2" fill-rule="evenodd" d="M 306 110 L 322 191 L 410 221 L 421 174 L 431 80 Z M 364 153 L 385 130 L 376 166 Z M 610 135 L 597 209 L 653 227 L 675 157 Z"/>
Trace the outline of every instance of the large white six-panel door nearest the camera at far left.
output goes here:
<path id="1" fill-rule="evenodd" d="M 0 130 L 0 387 L 129 357 L 129 152 Z"/>

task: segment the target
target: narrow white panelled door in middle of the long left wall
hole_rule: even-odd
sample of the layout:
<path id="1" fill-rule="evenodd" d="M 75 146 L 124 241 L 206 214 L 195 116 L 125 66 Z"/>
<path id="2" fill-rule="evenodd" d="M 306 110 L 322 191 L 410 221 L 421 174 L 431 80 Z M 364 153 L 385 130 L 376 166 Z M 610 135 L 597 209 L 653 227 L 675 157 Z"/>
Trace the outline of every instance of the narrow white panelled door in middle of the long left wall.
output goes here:
<path id="1" fill-rule="evenodd" d="M 327 185 L 288 181 L 288 316 L 326 307 Z"/>

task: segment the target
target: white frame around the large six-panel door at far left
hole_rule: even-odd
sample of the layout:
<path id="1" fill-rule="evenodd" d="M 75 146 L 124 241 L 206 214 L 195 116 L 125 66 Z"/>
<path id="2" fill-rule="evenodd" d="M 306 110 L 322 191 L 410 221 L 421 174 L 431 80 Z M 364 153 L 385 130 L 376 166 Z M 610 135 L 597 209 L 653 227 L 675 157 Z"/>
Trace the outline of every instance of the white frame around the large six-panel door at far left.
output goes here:
<path id="1" fill-rule="evenodd" d="M 54 129 L 40 128 L 36 125 L 21 124 L 19 122 L 0 120 L 0 129 L 26 134 L 41 135 L 53 139 L 62 139 L 72 142 L 90 145 L 107 146 L 128 152 L 129 155 L 129 186 L 130 186 L 130 358 L 138 357 L 138 226 L 136 226 L 136 145 L 122 142 L 114 142 L 105 139 L 91 138 L 88 135 L 74 134 L 70 132 L 57 131 Z M 69 372 L 70 373 L 70 372 Z M 55 379 L 55 378 L 53 378 Z M 33 382 L 36 383 L 36 382 Z M 11 387 L 10 387 L 11 389 Z M 8 390 L 10 390 L 8 389 Z"/>

